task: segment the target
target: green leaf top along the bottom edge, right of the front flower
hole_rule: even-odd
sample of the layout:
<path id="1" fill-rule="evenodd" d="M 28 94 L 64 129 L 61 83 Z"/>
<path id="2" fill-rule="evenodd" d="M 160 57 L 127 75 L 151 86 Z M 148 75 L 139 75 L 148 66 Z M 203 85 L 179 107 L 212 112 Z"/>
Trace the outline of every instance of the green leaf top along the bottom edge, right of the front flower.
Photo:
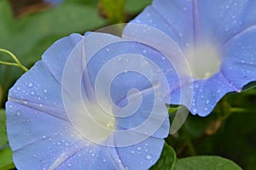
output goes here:
<path id="1" fill-rule="evenodd" d="M 241 170 L 235 162 L 220 156 L 192 156 L 179 159 L 175 170 Z"/>

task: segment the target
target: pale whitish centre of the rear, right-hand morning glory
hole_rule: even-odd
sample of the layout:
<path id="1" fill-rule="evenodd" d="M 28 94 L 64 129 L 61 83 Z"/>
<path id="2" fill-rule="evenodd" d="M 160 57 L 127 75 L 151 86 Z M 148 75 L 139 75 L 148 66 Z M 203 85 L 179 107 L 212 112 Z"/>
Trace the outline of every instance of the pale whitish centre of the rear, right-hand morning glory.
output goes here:
<path id="1" fill-rule="evenodd" d="M 221 65 L 221 55 L 212 43 L 200 43 L 188 48 L 186 56 L 192 76 L 196 79 L 212 77 Z"/>

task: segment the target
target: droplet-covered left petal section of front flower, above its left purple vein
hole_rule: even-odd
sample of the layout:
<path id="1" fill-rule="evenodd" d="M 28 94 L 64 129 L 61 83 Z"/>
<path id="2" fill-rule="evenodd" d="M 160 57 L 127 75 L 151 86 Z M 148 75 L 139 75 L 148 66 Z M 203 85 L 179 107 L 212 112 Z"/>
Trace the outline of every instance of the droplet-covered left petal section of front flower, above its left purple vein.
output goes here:
<path id="1" fill-rule="evenodd" d="M 61 100 L 61 85 L 43 61 L 38 61 L 15 83 L 9 90 L 9 100 L 67 119 Z"/>

